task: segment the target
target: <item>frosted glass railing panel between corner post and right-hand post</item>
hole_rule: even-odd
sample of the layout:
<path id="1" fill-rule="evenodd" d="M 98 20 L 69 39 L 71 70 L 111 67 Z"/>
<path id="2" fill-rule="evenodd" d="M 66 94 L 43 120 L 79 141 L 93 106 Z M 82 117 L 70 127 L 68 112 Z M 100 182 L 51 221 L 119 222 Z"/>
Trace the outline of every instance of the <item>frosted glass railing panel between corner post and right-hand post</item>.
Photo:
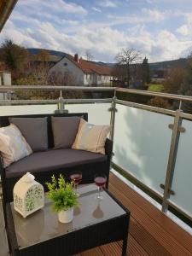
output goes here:
<path id="1" fill-rule="evenodd" d="M 173 117 L 117 104 L 114 164 L 162 195 L 172 139 Z"/>

